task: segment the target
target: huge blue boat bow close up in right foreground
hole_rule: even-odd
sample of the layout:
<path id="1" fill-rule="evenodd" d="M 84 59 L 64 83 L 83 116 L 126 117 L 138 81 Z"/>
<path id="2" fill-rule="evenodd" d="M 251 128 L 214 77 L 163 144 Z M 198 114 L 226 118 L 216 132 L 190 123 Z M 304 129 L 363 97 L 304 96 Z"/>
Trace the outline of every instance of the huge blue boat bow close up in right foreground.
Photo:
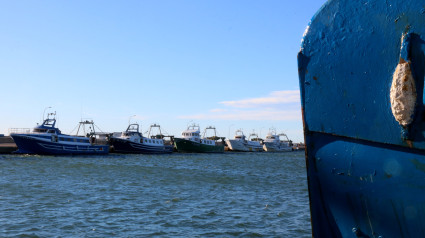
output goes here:
<path id="1" fill-rule="evenodd" d="M 330 0 L 298 54 L 314 237 L 425 237 L 423 0 Z"/>

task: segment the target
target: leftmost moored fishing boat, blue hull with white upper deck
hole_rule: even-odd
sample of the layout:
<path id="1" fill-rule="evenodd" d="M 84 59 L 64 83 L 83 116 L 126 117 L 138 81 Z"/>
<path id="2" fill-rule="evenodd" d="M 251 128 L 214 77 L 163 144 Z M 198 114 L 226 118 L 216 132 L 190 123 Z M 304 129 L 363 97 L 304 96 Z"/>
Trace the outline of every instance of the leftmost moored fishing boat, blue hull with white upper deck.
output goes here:
<path id="1" fill-rule="evenodd" d="M 47 155 L 107 154 L 109 146 L 97 143 L 93 121 L 81 121 L 78 130 L 89 126 L 86 136 L 66 135 L 55 127 L 56 112 L 48 113 L 41 125 L 30 129 L 11 128 L 9 131 L 18 146 L 15 153 Z"/>

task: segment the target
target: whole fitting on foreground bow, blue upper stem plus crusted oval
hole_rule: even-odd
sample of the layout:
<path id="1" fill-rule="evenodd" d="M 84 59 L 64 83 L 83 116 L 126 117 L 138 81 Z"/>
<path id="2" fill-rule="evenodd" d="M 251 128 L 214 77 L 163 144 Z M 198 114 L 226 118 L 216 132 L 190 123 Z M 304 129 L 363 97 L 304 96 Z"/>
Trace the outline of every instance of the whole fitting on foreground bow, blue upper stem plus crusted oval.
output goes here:
<path id="1" fill-rule="evenodd" d="M 400 60 L 393 74 L 390 90 L 391 111 L 396 121 L 407 133 L 412 123 L 416 106 L 416 84 L 412 74 L 410 61 L 411 33 L 401 38 Z"/>

